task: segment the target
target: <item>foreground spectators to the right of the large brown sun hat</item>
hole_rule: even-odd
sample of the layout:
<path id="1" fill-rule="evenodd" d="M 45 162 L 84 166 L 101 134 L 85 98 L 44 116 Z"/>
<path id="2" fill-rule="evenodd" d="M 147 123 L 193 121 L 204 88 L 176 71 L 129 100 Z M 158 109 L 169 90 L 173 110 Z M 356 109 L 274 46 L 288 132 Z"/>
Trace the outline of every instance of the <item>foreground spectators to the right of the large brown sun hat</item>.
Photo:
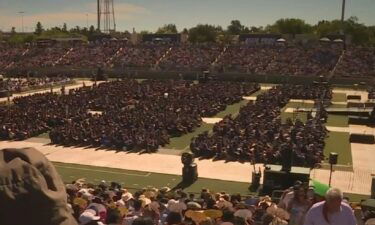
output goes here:
<path id="1" fill-rule="evenodd" d="M 105 181 L 94 186 L 78 180 L 66 188 L 71 212 L 80 225 L 323 225 L 325 218 L 316 214 L 325 202 L 344 211 L 338 218 L 329 217 L 327 224 L 357 223 L 340 190 L 317 190 L 299 181 L 278 202 L 268 196 L 243 197 L 208 189 L 188 194 L 148 187 L 132 194 Z"/>

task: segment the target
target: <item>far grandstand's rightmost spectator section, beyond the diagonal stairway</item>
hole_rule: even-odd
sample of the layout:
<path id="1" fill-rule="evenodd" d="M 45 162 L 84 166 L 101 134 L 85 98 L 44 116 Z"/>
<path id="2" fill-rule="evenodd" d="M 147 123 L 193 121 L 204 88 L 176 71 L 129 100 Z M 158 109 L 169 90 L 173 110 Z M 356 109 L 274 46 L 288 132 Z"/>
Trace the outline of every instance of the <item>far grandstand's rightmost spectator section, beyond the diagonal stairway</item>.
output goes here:
<path id="1" fill-rule="evenodd" d="M 341 76 L 375 76 L 375 49 L 349 48 L 335 70 Z"/>

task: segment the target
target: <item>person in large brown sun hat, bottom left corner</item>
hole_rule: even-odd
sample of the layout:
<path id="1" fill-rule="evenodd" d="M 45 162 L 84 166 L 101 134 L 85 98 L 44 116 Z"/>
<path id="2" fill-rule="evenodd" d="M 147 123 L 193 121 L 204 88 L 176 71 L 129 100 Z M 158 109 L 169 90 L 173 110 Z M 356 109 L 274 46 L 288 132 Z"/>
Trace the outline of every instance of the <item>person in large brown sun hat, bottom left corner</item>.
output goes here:
<path id="1" fill-rule="evenodd" d="M 0 150 L 0 209 L 1 225 L 77 225 L 64 183 L 34 148 Z"/>

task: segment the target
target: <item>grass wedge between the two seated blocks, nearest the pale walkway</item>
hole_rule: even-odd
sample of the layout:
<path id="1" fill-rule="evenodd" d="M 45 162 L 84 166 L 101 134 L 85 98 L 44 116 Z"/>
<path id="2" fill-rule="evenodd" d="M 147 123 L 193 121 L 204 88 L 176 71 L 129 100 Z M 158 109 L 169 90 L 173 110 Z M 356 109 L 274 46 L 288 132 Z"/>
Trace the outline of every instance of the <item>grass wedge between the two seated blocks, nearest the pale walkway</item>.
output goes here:
<path id="1" fill-rule="evenodd" d="M 189 150 L 191 138 L 203 133 L 204 131 L 211 131 L 214 124 L 202 123 L 200 127 L 195 129 L 194 132 L 185 134 L 181 137 L 174 137 L 170 139 L 170 143 L 164 148 L 166 149 L 176 149 L 176 150 Z"/>

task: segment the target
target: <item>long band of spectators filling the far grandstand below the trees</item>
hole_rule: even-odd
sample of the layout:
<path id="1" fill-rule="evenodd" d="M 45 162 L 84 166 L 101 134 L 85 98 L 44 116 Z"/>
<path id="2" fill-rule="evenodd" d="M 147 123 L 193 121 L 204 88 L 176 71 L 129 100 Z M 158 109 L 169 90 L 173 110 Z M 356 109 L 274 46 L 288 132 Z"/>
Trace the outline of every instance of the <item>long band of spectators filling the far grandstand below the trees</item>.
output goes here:
<path id="1" fill-rule="evenodd" d="M 158 68 L 166 71 L 208 70 L 282 75 L 374 76 L 371 48 L 342 50 L 335 45 L 156 44 L 124 42 L 2 46 L 0 70 L 37 67 Z"/>

